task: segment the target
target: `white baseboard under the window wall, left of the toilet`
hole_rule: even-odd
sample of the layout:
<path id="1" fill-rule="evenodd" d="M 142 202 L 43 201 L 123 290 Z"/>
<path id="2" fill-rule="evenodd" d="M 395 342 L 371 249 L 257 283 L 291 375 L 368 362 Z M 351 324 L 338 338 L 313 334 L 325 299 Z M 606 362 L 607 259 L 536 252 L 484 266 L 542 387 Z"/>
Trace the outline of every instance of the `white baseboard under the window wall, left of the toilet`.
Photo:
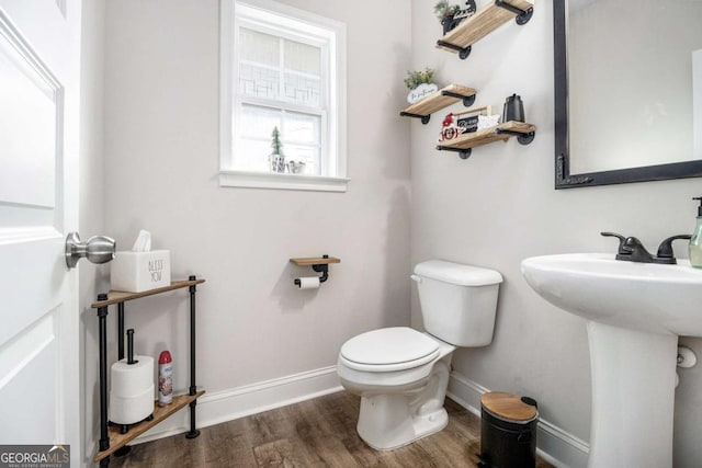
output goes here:
<path id="1" fill-rule="evenodd" d="M 206 390 L 206 389 L 205 389 Z M 330 366 L 229 390 L 197 399 L 197 429 L 248 416 L 342 390 L 337 367 Z M 134 440 L 134 444 L 181 434 L 190 427 L 188 407 Z"/>

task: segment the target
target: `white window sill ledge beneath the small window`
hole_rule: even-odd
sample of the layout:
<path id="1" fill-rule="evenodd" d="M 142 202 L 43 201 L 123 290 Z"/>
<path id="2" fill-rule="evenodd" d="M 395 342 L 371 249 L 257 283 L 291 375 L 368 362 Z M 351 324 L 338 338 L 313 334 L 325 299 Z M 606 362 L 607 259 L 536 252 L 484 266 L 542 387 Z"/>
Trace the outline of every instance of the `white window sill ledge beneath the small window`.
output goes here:
<path id="1" fill-rule="evenodd" d="M 219 186 L 346 192 L 350 179 L 272 172 L 219 171 Z"/>

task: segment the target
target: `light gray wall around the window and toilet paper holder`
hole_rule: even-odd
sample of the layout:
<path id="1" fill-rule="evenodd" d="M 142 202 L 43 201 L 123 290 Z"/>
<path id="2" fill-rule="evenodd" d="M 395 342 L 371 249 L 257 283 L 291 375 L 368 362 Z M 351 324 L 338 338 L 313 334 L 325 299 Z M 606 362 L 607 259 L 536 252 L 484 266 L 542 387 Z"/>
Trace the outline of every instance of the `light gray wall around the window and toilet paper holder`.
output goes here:
<path id="1" fill-rule="evenodd" d="M 332 366 L 360 332 L 409 322 L 409 61 L 403 0 L 287 0 L 348 27 L 347 193 L 219 187 L 218 1 L 107 2 L 106 230 L 139 229 L 196 274 L 199 381 L 210 392 Z M 292 256 L 341 259 L 318 290 Z M 186 356 L 186 295 L 127 307 L 139 352 Z M 186 372 L 176 388 L 186 388 Z"/>

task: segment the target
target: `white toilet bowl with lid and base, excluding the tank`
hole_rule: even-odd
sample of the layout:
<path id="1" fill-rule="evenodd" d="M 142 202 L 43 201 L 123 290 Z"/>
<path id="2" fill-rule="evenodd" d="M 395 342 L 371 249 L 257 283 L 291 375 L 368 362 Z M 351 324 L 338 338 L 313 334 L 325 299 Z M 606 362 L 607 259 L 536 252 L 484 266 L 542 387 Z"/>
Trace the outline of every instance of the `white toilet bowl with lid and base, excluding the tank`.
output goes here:
<path id="1" fill-rule="evenodd" d="M 365 344 L 376 352 L 373 358 L 364 358 Z M 406 327 L 370 331 L 344 343 L 337 372 L 341 385 L 361 396 L 356 430 L 366 444 L 397 448 L 446 426 L 443 401 L 453 350 Z"/>

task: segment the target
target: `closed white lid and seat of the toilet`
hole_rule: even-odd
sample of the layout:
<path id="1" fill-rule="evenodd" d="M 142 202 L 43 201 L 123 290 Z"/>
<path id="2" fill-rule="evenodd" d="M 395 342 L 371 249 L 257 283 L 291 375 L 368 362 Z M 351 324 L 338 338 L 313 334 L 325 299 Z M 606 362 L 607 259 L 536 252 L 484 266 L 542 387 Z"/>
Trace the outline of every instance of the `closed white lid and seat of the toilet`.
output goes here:
<path id="1" fill-rule="evenodd" d="M 408 327 L 369 331 L 341 346 L 339 359 L 349 368 L 386 373 L 422 366 L 439 356 L 439 343 Z"/>

